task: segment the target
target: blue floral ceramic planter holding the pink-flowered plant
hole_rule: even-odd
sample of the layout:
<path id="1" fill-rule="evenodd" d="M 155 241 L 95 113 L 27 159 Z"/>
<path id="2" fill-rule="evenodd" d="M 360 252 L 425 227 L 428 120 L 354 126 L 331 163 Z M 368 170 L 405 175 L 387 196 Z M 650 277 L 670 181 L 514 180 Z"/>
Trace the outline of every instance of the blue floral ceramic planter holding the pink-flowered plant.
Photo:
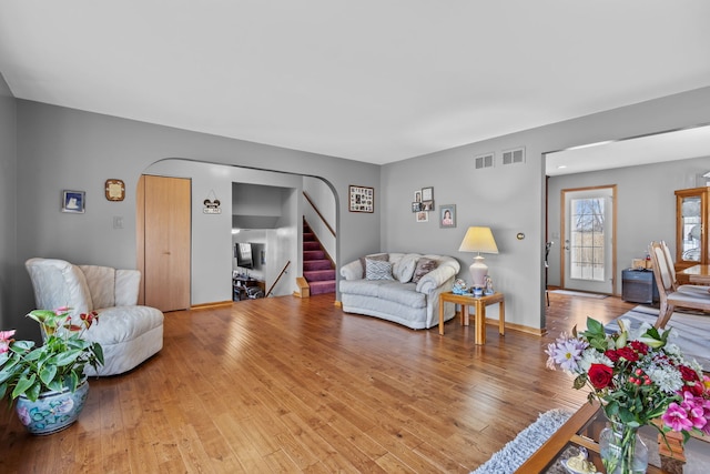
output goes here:
<path id="1" fill-rule="evenodd" d="M 73 393 L 67 387 L 61 392 L 42 392 L 36 402 L 20 395 L 14 410 L 30 433 L 51 434 L 77 421 L 88 395 L 89 382 L 84 379 Z"/>

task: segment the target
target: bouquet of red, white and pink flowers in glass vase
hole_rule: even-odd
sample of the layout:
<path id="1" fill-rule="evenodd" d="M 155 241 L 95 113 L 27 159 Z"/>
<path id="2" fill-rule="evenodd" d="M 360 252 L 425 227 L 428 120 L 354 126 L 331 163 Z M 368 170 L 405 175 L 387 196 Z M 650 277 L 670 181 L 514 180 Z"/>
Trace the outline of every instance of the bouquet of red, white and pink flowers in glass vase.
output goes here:
<path id="1" fill-rule="evenodd" d="M 587 331 L 575 327 L 548 345 L 547 366 L 572 374 L 575 389 L 589 387 L 589 402 L 598 400 L 612 424 L 637 430 L 660 418 L 653 426 L 663 435 L 682 433 L 683 442 L 693 432 L 710 434 L 710 377 L 669 342 L 672 329 L 631 329 L 623 319 L 618 324 L 618 332 L 607 333 L 588 317 Z"/>

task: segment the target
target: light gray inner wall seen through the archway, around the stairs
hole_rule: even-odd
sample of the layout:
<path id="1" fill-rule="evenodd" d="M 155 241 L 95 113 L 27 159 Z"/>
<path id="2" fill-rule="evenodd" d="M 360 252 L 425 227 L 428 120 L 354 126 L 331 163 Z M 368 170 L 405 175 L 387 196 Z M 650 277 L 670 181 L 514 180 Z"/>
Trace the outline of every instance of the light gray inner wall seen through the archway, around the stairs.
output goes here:
<path id="1" fill-rule="evenodd" d="M 267 246 L 265 264 L 260 270 L 260 276 L 264 279 L 266 289 L 272 289 L 274 296 L 287 295 L 297 291 L 295 280 L 302 274 L 303 269 L 302 216 L 308 205 L 304 203 L 303 192 L 308 188 L 310 181 L 317 180 L 323 183 L 320 191 L 314 193 L 316 194 L 314 199 L 320 200 L 322 208 L 329 211 L 327 218 L 332 219 L 332 222 L 328 224 L 336 230 L 338 229 L 337 193 L 334 186 L 321 177 L 183 158 L 159 160 L 145 168 L 143 174 L 187 178 L 192 182 L 191 304 L 193 306 L 224 302 L 233 297 L 232 274 L 235 239 L 232 234 L 234 228 L 232 188 L 234 183 L 271 186 L 274 192 L 281 194 L 281 215 L 274 220 L 273 228 L 268 230 L 268 242 L 264 242 Z M 220 212 L 204 212 L 206 199 L 219 200 Z M 241 214 L 250 212 L 252 215 L 260 215 L 260 212 L 274 214 L 273 209 L 264 210 L 262 206 L 260 211 L 258 201 L 248 205 L 252 208 L 250 211 L 245 211 L 242 206 L 239 212 Z M 339 245 L 335 239 L 333 256 L 336 261 L 338 253 Z M 286 262 L 291 262 L 288 269 L 278 279 Z"/>

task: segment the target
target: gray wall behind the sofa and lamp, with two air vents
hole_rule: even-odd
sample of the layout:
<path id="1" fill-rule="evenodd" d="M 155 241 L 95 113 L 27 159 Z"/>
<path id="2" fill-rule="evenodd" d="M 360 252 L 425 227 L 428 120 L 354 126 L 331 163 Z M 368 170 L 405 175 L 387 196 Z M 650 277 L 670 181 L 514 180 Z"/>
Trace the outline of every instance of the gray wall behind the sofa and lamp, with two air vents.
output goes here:
<path id="1" fill-rule="evenodd" d="M 384 165 L 383 250 L 455 256 L 459 276 L 470 280 L 473 255 L 458 246 L 469 225 L 488 225 L 500 253 L 485 255 L 486 263 L 496 290 L 506 293 L 506 320 L 544 327 L 544 153 L 701 123 L 710 123 L 710 88 Z M 503 167 L 501 151 L 517 147 L 526 148 L 526 163 Z M 474 158 L 489 152 L 496 153 L 495 168 L 474 170 Z M 434 214 L 427 223 L 415 222 L 412 195 L 423 186 L 434 186 L 437 209 L 456 204 L 456 229 L 439 229 Z M 517 240 L 518 232 L 526 238 Z"/>

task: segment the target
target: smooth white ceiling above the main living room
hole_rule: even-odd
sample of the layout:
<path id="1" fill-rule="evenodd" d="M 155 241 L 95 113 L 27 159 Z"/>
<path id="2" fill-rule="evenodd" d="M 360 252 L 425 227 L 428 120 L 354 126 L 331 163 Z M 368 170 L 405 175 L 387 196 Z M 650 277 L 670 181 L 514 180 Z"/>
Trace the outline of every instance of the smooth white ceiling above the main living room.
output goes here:
<path id="1" fill-rule="evenodd" d="M 387 163 L 710 85 L 707 0 L 8 0 L 28 99 Z"/>

